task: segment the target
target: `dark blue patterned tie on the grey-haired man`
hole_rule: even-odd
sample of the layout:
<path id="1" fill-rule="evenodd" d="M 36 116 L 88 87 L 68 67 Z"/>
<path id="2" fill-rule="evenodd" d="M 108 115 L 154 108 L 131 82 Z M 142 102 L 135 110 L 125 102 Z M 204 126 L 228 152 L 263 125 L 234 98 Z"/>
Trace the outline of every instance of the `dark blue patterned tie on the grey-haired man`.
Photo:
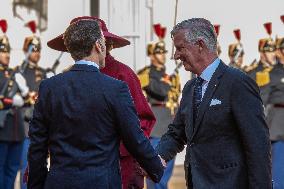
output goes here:
<path id="1" fill-rule="evenodd" d="M 202 100 L 202 84 L 203 79 L 201 77 L 197 77 L 194 83 L 194 92 L 193 92 L 193 125 L 195 124 L 198 109 Z"/>

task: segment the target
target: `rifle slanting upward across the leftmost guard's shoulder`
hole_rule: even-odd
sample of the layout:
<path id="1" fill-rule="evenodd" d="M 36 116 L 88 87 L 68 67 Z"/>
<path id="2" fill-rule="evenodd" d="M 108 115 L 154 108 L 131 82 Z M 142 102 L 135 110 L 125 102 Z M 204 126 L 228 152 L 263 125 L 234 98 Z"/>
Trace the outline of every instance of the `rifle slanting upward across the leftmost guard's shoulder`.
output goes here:
<path id="1" fill-rule="evenodd" d="M 19 67 L 19 69 L 15 69 L 11 73 L 10 77 L 7 79 L 7 81 L 5 82 L 3 88 L 1 89 L 0 97 L 5 97 L 6 96 L 6 93 L 8 92 L 8 87 L 9 87 L 10 81 L 15 81 L 15 74 L 18 73 L 18 72 L 23 74 L 25 72 L 25 70 L 26 70 L 26 68 L 27 68 L 27 66 L 29 64 L 29 57 L 30 57 L 30 55 L 32 53 L 32 50 L 33 50 L 33 45 L 30 45 L 29 48 L 28 48 L 28 52 L 26 54 L 26 57 L 24 59 L 23 64 Z M 17 93 L 18 88 L 19 87 L 18 87 L 17 83 L 16 83 L 16 85 L 14 84 L 12 86 L 12 89 L 8 92 L 7 98 L 13 98 L 13 96 Z"/>

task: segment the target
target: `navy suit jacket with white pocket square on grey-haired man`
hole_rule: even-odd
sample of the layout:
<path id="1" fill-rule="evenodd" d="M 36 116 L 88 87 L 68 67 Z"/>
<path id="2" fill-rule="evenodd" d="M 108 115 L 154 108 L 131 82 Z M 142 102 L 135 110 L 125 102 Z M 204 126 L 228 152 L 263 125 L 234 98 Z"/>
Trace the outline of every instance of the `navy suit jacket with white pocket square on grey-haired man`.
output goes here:
<path id="1" fill-rule="evenodd" d="M 221 62 L 193 125 L 194 82 L 184 87 L 177 115 L 157 147 L 159 154 L 170 160 L 187 145 L 189 188 L 271 188 L 269 132 L 256 83 Z M 210 106 L 211 99 L 221 104 Z"/>

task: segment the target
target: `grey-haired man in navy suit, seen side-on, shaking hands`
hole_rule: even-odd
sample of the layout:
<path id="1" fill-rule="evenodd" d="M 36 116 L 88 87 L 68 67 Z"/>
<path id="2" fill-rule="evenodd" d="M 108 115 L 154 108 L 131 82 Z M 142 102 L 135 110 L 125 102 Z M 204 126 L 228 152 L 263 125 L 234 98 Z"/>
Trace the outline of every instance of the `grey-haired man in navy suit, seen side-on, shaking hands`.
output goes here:
<path id="1" fill-rule="evenodd" d="M 185 85 L 158 153 L 168 161 L 187 145 L 188 188 L 270 189 L 271 147 L 256 83 L 217 57 L 209 21 L 185 20 L 171 34 L 175 59 L 197 77 Z"/>

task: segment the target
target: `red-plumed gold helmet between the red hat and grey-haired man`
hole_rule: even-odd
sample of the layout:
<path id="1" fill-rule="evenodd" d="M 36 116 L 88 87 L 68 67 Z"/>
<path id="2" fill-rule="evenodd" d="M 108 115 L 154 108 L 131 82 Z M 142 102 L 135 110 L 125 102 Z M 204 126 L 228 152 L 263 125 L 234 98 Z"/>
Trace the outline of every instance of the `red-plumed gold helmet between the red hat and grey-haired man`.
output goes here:
<path id="1" fill-rule="evenodd" d="M 149 43 L 147 45 L 147 55 L 163 54 L 167 53 L 166 44 L 164 38 L 166 35 L 166 27 L 162 27 L 161 24 L 154 25 L 155 34 L 159 37 L 159 41 L 156 43 Z"/>

